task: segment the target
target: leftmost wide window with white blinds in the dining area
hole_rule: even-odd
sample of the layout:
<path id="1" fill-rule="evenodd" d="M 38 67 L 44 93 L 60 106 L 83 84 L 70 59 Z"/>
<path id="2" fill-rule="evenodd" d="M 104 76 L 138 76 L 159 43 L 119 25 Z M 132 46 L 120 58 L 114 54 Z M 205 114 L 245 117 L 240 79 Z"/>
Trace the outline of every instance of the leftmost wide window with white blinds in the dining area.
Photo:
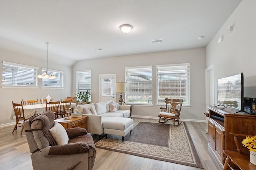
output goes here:
<path id="1" fill-rule="evenodd" d="M 37 87 L 38 67 L 3 61 L 2 86 Z"/>

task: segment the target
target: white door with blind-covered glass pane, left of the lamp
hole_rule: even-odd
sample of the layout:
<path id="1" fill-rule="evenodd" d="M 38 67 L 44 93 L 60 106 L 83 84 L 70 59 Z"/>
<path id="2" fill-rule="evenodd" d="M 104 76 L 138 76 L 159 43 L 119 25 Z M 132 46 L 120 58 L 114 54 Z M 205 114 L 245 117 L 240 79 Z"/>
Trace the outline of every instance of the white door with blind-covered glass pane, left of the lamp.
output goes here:
<path id="1" fill-rule="evenodd" d="M 116 102 L 116 74 L 100 74 L 100 102 Z"/>

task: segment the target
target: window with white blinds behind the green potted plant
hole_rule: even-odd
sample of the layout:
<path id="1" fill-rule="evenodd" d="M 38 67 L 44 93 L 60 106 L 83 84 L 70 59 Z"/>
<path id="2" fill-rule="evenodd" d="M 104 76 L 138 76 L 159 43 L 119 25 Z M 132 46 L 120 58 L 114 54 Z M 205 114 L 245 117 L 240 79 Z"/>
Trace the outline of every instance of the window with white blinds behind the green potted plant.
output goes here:
<path id="1" fill-rule="evenodd" d="M 76 93 L 87 90 L 91 93 L 91 70 L 76 71 Z"/>

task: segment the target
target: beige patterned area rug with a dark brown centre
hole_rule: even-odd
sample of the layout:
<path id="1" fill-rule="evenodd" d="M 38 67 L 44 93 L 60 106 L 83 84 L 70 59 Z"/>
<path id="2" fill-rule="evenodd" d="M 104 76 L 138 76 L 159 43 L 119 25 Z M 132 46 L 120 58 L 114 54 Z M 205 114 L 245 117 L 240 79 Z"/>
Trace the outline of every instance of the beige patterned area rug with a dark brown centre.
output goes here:
<path id="1" fill-rule="evenodd" d="M 176 164 L 203 168 L 192 138 L 182 122 L 176 127 L 168 123 L 157 123 L 151 119 L 133 119 L 132 134 L 124 137 L 108 135 L 95 143 L 100 149 L 112 150 L 162 160 Z M 172 122 L 171 122 L 172 123 Z"/>

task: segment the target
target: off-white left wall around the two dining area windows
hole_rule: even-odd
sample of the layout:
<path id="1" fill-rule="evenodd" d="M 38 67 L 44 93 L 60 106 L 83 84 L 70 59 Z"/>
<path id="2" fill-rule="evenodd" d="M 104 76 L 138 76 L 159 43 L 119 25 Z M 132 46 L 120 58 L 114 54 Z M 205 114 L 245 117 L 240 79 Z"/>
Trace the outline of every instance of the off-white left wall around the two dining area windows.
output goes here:
<path id="1" fill-rule="evenodd" d="M 38 66 L 46 68 L 47 62 L 33 58 L 31 56 L 24 55 L 15 51 L 7 49 L 0 49 L 0 74 L 2 74 L 2 61 L 8 61 L 12 63 L 25 64 L 30 66 Z M 12 101 L 20 103 L 23 100 L 36 100 L 40 104 L 39 98 L 46 97 L 48 94 L 54 97 L 55 100 L 64 100 L 65 96 L 72 95 L 72 67 L 64 66 L 58 63 L 49 63 L 48 68 L 53 70 L 64 71 L 64 89 L 42 89 L 41 81 L 38 79 L 38 88 L 1 88 L 0 87 L 0 126 L 8 123 L 13 123 L 15 120 L 10 119 L 10 112 L 12 108 Z M 2 76 L 1 76 L 2 77 Z M 0 80 L 2 82 L 2 80 Z M 2 83 L 1 83 L 2 84 Z"/>

